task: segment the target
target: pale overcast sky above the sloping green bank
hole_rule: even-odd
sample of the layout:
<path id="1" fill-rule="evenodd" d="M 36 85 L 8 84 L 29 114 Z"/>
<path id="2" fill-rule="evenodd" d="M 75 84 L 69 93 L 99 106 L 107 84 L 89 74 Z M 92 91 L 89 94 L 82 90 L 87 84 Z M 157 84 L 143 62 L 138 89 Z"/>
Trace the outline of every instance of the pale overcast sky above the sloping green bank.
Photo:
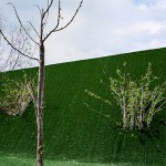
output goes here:
<path id="1" fill-rule="evenodd" d="M 38 28 L 39 11 L 46 0 L 0 0 L 9 21 L 17 22 L 12 2 L 22 20 Z M 54 0 L 56 1 L 56 0 Z M 62 0 L 62 24 L 74 13 L 79 0 Z M 48 30 L 55 23 L 56 3 Z M 13 21 L 14 20 L 14 21 Z M 114 55 L 166 45 L 166 0 L 84 0 L 74 22 L 45 43 L 46 64 Z"/>

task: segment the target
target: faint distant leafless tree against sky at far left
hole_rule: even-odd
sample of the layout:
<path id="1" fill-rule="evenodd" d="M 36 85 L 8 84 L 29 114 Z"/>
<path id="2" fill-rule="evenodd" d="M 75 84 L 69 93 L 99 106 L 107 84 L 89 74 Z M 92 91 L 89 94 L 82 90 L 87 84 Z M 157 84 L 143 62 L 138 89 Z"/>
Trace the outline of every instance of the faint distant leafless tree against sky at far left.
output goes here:
<path id="1" fill-rule="evenodd" d="M 0 13 L 0 30 L 3 30 L 3 32 L 7 31 L 6 35 L 8 34 L 8 39 L 12 45 L 17 46 L 22 52 L 32 55 L 34 50 L 32 50 L 31 40 L 24 35 L 22 28 L 9 25 L 10 29 L 8 30 L 6 22 L 7 18 Z M 27 31 L 30 32 L 29 27 L 27 27 Z M 13 48 L 9 48 L 6 40 L 0 35 L 0 72 L 12 71 L 20 68 L 24 69 L 31 66 L 31 63 L 32 61 L 28 58 L 22 56 Z"/>

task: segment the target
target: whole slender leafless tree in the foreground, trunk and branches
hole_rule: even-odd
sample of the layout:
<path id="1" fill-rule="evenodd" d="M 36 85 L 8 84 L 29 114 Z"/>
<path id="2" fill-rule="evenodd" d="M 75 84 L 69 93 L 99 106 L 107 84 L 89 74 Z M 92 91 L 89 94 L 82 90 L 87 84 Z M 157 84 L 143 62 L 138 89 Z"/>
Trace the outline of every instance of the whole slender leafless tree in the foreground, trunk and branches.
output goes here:
<path id="1" fill-rule="evenodd" d="M 22 56 L 35 60 L 39 62 L 39 77 L 38 77 L 38 95 L 35 100 L 35 107 L 37 107 L 37 126 L 38 126 L 38 147 L 37 147 L 37 164 L 38 166 L 43 166 L 43 97 L 44 97 L 44 56 L 45 56 L 45 51 L 44 51 L 44 43 L 49 39 L 51 34 L 54 32 L 59 32 L 68 28 L 76 17 L 77 12 L 80 11 L 83 0 L 80 1 L 77 9 L 73 13 L 72 18 L 61 27 L 61 20 L 62 20 L 62 10 L 61 10 L 61 0 L 58 0 L 58 19 L 53 28 L 45 32 L 45 25 L 48 24 L 48 19 L 51 12 L 51 9 L 53 8 L 54 0 L 48 0 L 48 6 L 46 8 L 41 8 L 38 4 L 35 7 L 39 9 L 40 13 L 40 30 L 38 30 L 32 22 L 29 22 L 31 25 L 32 30 L 38 37 L 38 40 L 35 40 L 24 28 L 20 15 L 18 14 L 18 11 L 12 3 L 9 3 L 12 6 L 15 17 L 19 21 L 19 24 L 22 29 L 22 31 L 25 32 L 27 37 L 31 39 L 31 41 L 39 46 L 39 59 L 32 58 L 29 54 L 25 54 L 23 51 L 21 51 L 19 48 L 12 44 L 12 42 L 8 39 L 8 37 L 3 33 L 2 30 L 0 30 L 1 35 L 3 39 L 7 41 L 7 43 L 14 49 L 17 52 L 19 52 Z"/>

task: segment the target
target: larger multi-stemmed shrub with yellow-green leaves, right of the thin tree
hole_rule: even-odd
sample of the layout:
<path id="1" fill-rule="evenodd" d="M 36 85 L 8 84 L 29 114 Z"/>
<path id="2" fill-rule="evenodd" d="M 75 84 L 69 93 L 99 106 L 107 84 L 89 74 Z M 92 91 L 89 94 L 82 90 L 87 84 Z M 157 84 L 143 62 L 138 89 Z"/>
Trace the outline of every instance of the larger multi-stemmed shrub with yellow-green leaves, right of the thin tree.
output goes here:
<path id="1" fill-rule="evenodd" d="M 124 63 L 124 66 L 126 63 Z M 125 71 L 125 70 L 124 70 Z M 116 70 L 116 77 L 110 77 L 108 89 L 122 111 L 123 128 L 143 129 L 149 127 L 156 113 L 166 105 L 166 82 L 153 87 L 158 77 L 153 74 L 152 64 L 139 80 L 132 80 L 129 73 Z M 111 104 L 96 94 L 85 91 L 89 95 Z"/>

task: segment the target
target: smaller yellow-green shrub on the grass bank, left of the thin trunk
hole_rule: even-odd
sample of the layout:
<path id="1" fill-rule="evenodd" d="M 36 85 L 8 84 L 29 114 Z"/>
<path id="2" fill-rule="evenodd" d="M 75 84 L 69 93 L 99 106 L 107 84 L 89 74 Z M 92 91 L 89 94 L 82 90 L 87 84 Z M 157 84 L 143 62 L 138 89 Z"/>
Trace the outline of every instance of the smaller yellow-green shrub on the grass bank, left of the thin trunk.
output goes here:
<path id="1" fill-rule="evenodd" d="M 4 79 L 1 85 L 0 110 L 9 115 L 22 115 L 29 103 L 33 100 L 33 81 L 28 81 L 24 75 L 23 81 Z M 35 93 L 35 89 L 34 92 Z"/>

